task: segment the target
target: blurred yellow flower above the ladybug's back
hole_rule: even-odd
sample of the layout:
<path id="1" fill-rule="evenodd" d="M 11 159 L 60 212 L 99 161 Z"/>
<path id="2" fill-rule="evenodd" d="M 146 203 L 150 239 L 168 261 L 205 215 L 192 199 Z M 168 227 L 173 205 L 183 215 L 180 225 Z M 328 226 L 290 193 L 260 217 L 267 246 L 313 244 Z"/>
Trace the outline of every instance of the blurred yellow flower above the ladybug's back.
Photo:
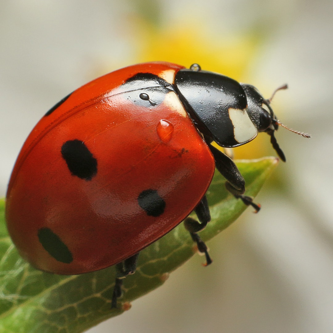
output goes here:
<path id="1" fill-rule="evenodd" d="M 164 60 L 240 79 L 255 55 L 258 41 L 249 36 L 225 38 L 198 25 L 156 28 L 142 22 L 137 41 L 139 61 Z M 139 36 L 137 36 L 139 37 Z"/>

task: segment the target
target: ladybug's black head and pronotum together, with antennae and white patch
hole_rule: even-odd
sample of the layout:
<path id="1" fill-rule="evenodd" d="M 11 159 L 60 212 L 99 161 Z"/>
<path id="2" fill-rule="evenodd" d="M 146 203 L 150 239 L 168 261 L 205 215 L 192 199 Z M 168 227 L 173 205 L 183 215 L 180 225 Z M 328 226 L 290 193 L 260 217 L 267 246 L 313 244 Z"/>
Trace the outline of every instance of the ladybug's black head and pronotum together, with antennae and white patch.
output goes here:
<path id="1" fill-rule="evenodd" d="M 283 86 L 276 91 L 286 88 Z M 286 160 L 274 137 L 278 127 L 285 126 L 270 107 L 273 96 L 266 100 L 255 87 L 239 84 L 221 74 L 202 71 L 198 64 L 176 73 L 174 89 L 207 142 L 233 148 L 250 142 L 258 132 L 266 132 L 278 156 L 282 161 Z"/>

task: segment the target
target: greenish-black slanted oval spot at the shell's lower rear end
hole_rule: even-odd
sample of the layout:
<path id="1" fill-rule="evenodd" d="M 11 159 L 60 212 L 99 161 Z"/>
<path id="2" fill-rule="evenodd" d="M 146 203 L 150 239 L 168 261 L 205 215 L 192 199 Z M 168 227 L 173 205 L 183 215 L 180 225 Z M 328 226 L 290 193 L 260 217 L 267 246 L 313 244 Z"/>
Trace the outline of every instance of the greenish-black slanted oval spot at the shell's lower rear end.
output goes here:
<path id="1" fill-rule="evenodd" d="M 54 259 L 65 264 L 73 261 L 71 251 L 50 228 L 40 228 L 37 235 L 40 243 Z"/>

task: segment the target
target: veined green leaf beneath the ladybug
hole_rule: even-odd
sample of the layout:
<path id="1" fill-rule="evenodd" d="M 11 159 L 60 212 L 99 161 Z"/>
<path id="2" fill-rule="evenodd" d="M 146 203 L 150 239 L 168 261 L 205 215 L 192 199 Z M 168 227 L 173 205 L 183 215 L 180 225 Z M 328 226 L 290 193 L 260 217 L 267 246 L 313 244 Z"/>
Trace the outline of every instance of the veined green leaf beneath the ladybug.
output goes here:
<path id="1" fill-rule="evenodd" d="M 277 165 L 277 159 L 239 161 L 246 181 L 246 194 L 255 196 Z M 245 210 L 224 187 L 215 172 L 207 192 L 212 220 L 200 232 L 204 241 L 226 228 Z M 0 332 L 77 333 L 130 308 L 130 302 L 162 285 L 168 274 L 196 253 L 195 246 L 179 224 L 166 236 L 140 253 L 137 272 L 124 280 L 124 296 L 111 310 L 114 267 L 81 275 L 56 275 L 31 267 L 18 254 L 4 222 L 0 202 Z M 217 254 L 215 254 L 217 255 Z M 198 267 L 199 269 L 199 267 Z"/>

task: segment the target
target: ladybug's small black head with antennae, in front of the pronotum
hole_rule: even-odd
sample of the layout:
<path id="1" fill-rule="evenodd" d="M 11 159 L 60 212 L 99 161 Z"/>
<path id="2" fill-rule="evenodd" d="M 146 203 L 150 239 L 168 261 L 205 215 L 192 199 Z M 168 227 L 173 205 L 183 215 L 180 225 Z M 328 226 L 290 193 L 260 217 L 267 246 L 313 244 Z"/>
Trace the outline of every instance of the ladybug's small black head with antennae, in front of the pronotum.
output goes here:
<path id="1" fill-rule="evenodd" d="M 287 89 L 288 86 L 284 85 L 277 88 L 270 99 L 265 99 L 254 86 L 244 83 L 241 83 L 240 85 L 243 87 L 246 94 L 248 113 L 254 125 L 258 129 L 258 132 L 266 132 L 270 135 L 273 148 L 277 152 L 280 159 L 285 162 L 286 158 L 274 137 L 274 132 L 279 128 L 279 126 L 282 126 L 293 133 L 299 134 L 302 137 L 310 138 L 308 134 L 291 130 L 281 124 L 270 107 L 270 102 L 275 93 L 278 90 Z"/>

